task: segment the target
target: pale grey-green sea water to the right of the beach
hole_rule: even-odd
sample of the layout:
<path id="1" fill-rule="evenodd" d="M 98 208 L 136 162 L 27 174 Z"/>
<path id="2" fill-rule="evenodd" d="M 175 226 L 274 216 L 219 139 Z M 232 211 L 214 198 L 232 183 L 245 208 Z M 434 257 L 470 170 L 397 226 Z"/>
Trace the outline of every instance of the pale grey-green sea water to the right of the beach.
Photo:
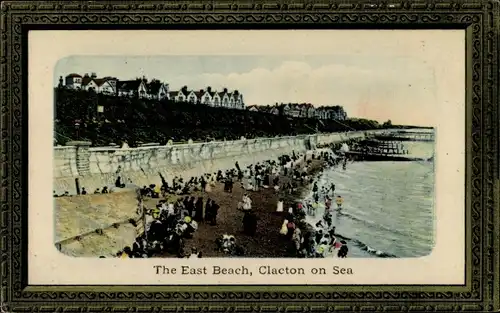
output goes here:
<path id="1" fill-rule="evenodd" d="M 348 243 L 348 257 L 420 257 L 434 247 L 434 163 L 427 160 L 434 143 L 403 144 L 409 156 L 424 160 L 353 162 L 346 170 L 326 169 L 317 180 L 320 191 L 333 183 L 335 196 L 344 199 L 333 221 L 338 237 Z M 312 192 L 306 199 L 311 198 Z M 320 203 L 316 216 L 306 220 L 314 225 L 323 213 Z"/>

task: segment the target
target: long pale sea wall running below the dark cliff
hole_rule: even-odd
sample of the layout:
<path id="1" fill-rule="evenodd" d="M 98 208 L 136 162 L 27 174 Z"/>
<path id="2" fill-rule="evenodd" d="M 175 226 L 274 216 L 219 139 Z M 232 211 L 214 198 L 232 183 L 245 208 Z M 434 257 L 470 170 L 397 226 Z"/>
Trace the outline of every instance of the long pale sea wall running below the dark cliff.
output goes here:
<path id="1" fill-rule="evenodd" d="M 160 184 L 159 173 L 171 182 L 174 176 L 189 179 L 203 173 L 241 167 L 274 159 L 280 155 L 315 149 L 317 145 L 363 138 L 365 132 L 301 135 L 275 138 L 173 144 L 139 148 L 54 148 L 54 190 L 76 192 L 75 178 L 88 192 L 114 185 L 118 176 L 124 182 L 143 186 Z"/>

